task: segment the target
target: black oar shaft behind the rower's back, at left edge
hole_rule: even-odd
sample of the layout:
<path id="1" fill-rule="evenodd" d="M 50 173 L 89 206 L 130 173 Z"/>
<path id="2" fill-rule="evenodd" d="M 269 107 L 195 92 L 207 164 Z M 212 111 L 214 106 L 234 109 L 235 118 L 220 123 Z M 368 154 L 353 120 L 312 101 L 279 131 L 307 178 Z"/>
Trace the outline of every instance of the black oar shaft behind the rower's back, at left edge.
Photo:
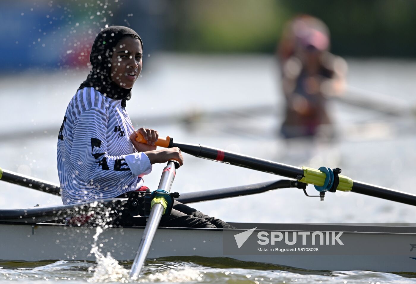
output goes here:
<path id="1" fill-rule="evenodd" d="M 17 174 L 12 171 L 3 170 L 0 168 L 0 180 L 7 181 L 12 184 L 17 184 L 21 186 L 26 186 L 31 189 L 36 189 L 46 193 L 51 193 L 54 195 L 61 195 L 61 188 L 58 184 L 51 184 L 47 181 L 42 181 L 41 179 L 35 179 L 31 176 L 24 176 L 22 174 Z"/>

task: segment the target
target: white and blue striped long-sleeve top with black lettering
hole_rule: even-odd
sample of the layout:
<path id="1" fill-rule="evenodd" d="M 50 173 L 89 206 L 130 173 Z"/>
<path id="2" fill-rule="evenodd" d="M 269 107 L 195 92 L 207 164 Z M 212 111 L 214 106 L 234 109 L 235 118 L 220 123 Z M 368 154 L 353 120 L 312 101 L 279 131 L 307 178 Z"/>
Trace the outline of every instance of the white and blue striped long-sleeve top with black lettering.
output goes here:
<path id="1" fill-rule="evenodd" d="M 62 202 L 114 198 L 143 185 L 149 158 L 137 152 L 121 100 L 94 88 L 79 90 L 67 107 L 58 135 L 57 166 Z"/>

